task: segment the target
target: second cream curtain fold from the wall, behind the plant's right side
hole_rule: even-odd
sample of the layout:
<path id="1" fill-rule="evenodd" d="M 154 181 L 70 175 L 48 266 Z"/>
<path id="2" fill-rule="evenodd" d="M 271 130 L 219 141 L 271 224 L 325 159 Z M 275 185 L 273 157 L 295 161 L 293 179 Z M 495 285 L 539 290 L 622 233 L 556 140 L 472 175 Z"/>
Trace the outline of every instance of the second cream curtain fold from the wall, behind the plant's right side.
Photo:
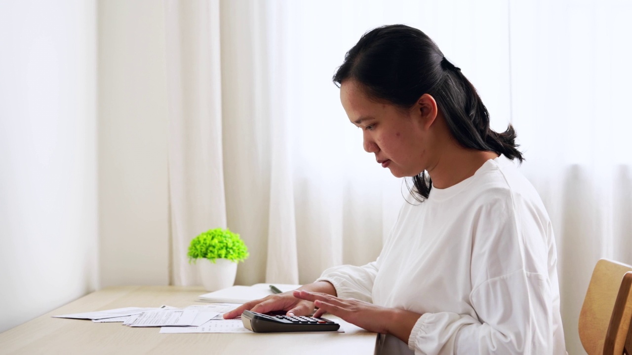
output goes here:
<path id="1" fill-rule="evenodd" d="M 270 227 L 269 30 L 264 1 L 221 1 L 222 156 L 227 223 L 250 258 L 237 284 L 265 282 Z"/>

